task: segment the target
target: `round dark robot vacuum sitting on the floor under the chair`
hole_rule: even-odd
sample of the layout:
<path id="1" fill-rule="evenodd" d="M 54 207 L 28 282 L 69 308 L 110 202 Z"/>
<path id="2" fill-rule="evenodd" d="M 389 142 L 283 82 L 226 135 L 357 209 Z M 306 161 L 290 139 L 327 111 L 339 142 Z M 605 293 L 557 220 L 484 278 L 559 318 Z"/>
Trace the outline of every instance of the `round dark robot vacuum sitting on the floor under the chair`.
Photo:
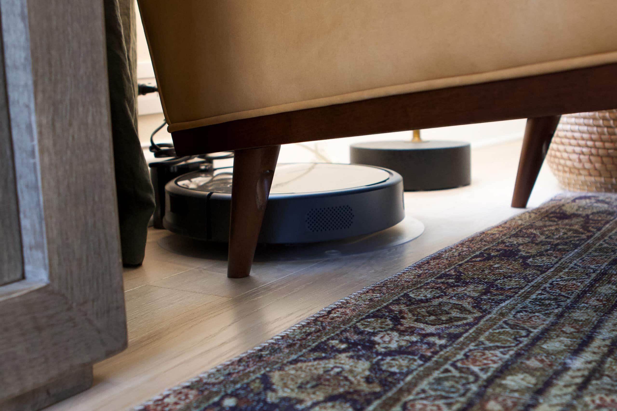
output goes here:
<path id="1" fill-rule="evenodd" d="M 228 242 L 233 168 L 193 171 L 165 185 L 165 229 Z M 405 217 L 403 179 L 386 168 L 330 163 L 276 166 L 260 243 L 338 240 L 385 230 Z"/>

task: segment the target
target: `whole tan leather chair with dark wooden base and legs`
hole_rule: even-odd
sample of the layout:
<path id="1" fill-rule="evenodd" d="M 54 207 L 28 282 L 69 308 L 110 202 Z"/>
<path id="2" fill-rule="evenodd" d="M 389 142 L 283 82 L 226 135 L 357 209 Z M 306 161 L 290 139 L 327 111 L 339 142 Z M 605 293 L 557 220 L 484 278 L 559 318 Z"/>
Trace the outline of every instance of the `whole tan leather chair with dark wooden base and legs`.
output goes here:
<path id="1" fill-rule="evenodd" d="M 530 118 L 524 207 L 563 113 L 617 107 L 616 0 L 139 0 L 176 152 L 235 150 L 228 276 L 280 144 Z"/>

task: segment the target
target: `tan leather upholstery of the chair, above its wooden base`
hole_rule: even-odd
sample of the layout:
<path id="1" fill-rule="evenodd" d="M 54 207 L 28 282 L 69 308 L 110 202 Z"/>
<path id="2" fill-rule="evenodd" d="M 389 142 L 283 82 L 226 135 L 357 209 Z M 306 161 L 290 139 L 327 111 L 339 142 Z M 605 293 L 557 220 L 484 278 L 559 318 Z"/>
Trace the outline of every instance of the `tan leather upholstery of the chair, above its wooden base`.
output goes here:
<path id="1" fill-rule="evenodd" d="M 139 0 L 169 131 L 617 62 L 616 0 Z"/>

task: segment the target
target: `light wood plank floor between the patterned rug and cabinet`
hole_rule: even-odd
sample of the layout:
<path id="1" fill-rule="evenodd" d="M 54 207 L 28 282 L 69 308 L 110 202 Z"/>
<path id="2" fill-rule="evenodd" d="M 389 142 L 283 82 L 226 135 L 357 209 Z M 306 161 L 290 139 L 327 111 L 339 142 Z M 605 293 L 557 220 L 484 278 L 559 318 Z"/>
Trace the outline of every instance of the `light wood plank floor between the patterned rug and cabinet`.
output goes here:
<path id="1" fill-rule="evenodd" d="M 405 193 L 424 234 L 385 251 L 331 259 L 257 262 L 246 279 L 226 262 L 170 253 L 149 231 L 146 261 L 124 273 L 129 344 L 94 365 L 94 386 L 51 410 L 121 410 L 251 349 L 338 299 L 444 246 L 520 213 L 510 208 L 521 142 L 473 150 L 468 187 Z M 545 166 L 530 206 L 561 190 Z"/>

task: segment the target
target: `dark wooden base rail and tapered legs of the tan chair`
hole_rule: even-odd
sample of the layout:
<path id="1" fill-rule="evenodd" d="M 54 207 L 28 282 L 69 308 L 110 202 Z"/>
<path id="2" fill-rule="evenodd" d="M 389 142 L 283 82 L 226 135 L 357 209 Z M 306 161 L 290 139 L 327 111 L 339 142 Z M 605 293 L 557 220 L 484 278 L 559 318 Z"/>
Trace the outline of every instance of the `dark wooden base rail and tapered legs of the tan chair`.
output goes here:
<path id="1" fill-rule="evenodd" d="M 178 155 L 236 152 L 228 277 L 240 278 L 251 271 L 263 218 L 260 199 L 268 196 L 278 157 L 278 149 L 268 147 L 528 118 L 512 200 L 524 208 L 560 115 L 615 107 L 617 63 L 234 120 L 172 137 Z M 251 165 L 238 168 L 244 162 Z"/>

